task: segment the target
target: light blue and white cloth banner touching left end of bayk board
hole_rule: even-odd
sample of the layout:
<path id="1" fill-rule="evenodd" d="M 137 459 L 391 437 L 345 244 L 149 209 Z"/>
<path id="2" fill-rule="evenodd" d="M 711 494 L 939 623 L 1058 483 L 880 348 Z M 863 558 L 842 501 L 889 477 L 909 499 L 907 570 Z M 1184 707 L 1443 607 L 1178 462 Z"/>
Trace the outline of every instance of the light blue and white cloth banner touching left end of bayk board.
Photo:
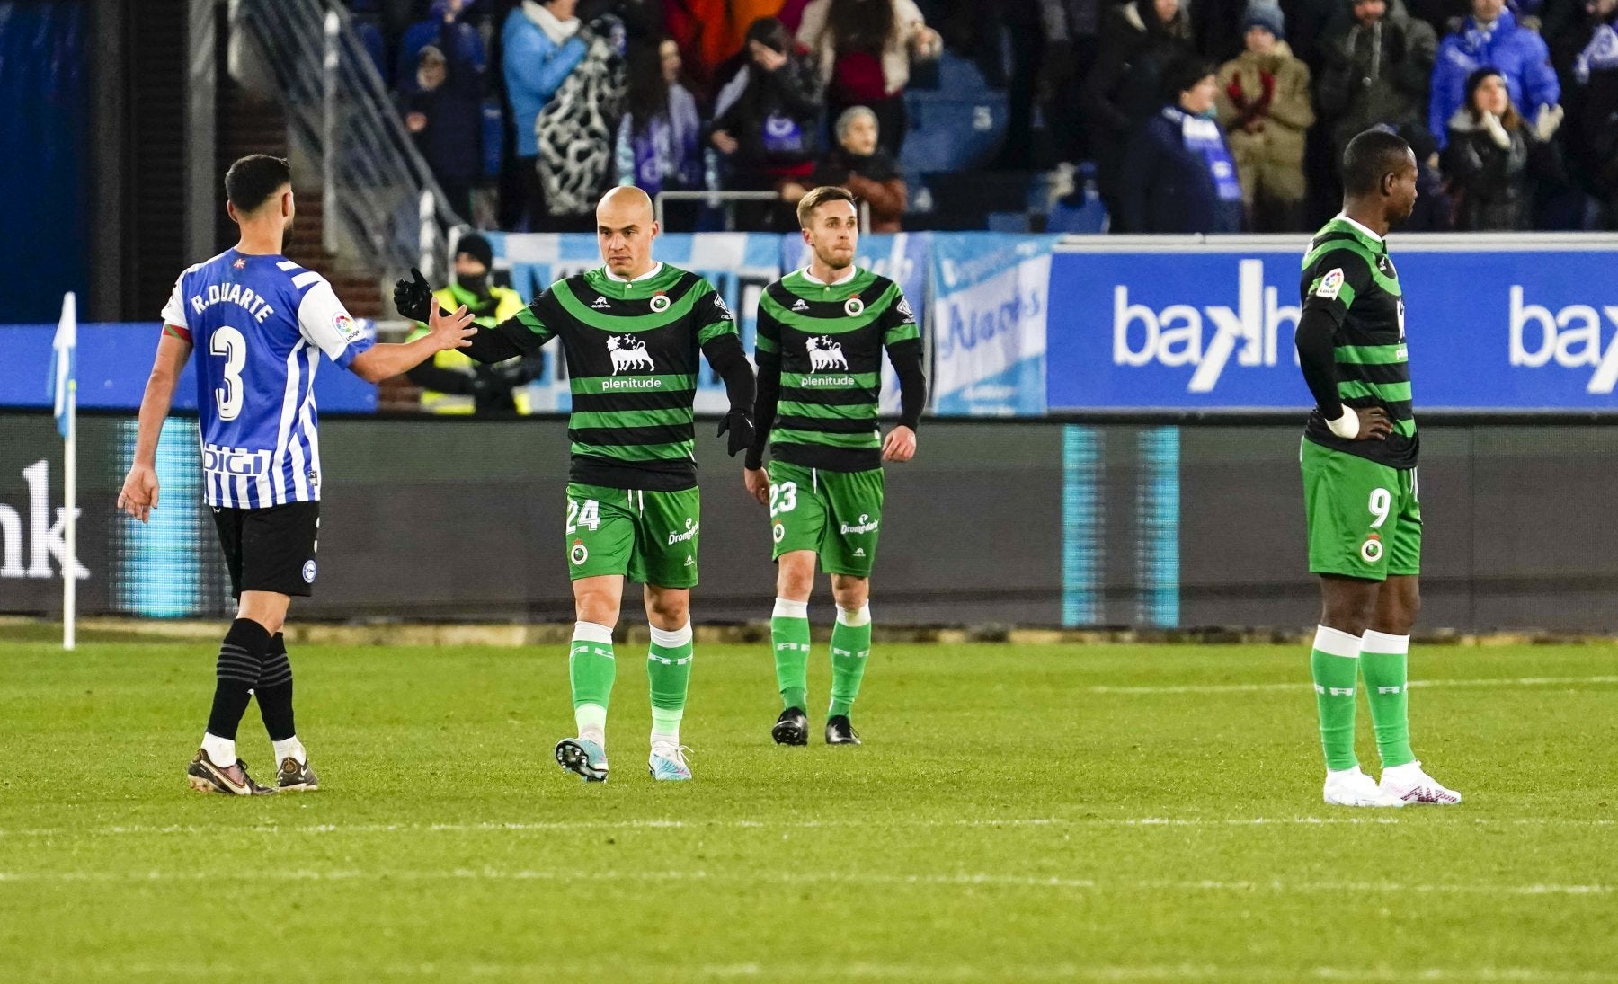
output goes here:
<path id="1" fill-rule="evenodd" d="M 935 413 L 1045 413 L 1045 319 L 1055 296 L 1052 249 L 1060 240 L 934 233 Z"/>

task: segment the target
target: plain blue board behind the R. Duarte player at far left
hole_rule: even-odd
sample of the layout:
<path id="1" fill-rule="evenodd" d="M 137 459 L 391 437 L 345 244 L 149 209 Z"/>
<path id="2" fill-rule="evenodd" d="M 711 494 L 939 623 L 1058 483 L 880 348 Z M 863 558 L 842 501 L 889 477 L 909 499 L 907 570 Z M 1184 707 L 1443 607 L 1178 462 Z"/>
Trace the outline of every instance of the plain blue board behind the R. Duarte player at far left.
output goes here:
<path id="1" fill-rule="evenodd" d="M 372 324 L 359 322 L 366 335 L 375 338 Z M 0 340 L 15 369 L 0 372 L 0 406 L 52 408 L 47 375 L 50 340 L 57 325 L 0 325 Z M 78 401 L 81 409 L 139 409 L 146 379 L 157 354 L 159 324 L 91 322 L 79 325 Z M 314 377 L 314 401 L 322 411 L 375 413 L 377 387 L 353 372 L 320 359 Z M 175 409 L 197 408 L 196 359 L 188 359 L 175 387 Z"/>

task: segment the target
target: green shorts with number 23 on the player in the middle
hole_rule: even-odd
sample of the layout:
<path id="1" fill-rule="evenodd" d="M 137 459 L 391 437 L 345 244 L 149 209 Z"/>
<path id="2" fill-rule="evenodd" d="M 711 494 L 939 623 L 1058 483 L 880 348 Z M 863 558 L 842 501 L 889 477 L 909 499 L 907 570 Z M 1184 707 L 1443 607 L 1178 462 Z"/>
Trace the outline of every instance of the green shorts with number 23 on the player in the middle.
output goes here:
<path id="1" fill-rule="evenodd" d="M 825 471 L 770 461 L 772 557 L 814 550 L 828 575 L 869 578 L 882 532 L 882 469 Z"/>

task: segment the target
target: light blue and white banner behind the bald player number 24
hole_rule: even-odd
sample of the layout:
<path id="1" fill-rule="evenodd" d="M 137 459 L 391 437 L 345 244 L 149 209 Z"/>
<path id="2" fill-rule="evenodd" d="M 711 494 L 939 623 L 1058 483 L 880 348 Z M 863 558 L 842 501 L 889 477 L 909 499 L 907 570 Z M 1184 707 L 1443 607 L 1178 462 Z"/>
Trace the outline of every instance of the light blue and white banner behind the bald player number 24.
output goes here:
<path id="1" fill-rule="evenodd" d="M 508 274 L 511 288 L 524 301 L 557 280 L 602 265 L 594 233 L 484 233 L 495 254 L 495 272 Z M 781 244 L 775 233 L 665 233 L 657 236 L 652 254 L 676 267 L 707 277 L 725 304 L 736 312 L 741 343 L 752 351 L 759 295 L 781 275 Z M 560 350 L 545 359 L 545 372 L 529 387 L 536 413 L 566 411 L 573 406 L 566 363 Z M 696 408 L 723 413 L 728 408 L 725 384 L 704 366 L 697 380 Z"/>

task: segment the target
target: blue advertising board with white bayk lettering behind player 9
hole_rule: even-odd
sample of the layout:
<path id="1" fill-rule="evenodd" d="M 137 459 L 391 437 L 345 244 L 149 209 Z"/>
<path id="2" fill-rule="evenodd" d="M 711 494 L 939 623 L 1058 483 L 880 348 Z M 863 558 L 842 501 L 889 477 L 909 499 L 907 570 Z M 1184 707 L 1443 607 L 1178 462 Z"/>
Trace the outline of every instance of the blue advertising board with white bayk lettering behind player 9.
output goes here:
<path id="1" fill-rule="evenodd" d="M 1618 409 L 1613 248 L 1453 243 L 1390 244 L 1417 414 Z M 1307 408 L 1293 350 L 1302 249 L 1058 252 L 1048 406 Z"/>

